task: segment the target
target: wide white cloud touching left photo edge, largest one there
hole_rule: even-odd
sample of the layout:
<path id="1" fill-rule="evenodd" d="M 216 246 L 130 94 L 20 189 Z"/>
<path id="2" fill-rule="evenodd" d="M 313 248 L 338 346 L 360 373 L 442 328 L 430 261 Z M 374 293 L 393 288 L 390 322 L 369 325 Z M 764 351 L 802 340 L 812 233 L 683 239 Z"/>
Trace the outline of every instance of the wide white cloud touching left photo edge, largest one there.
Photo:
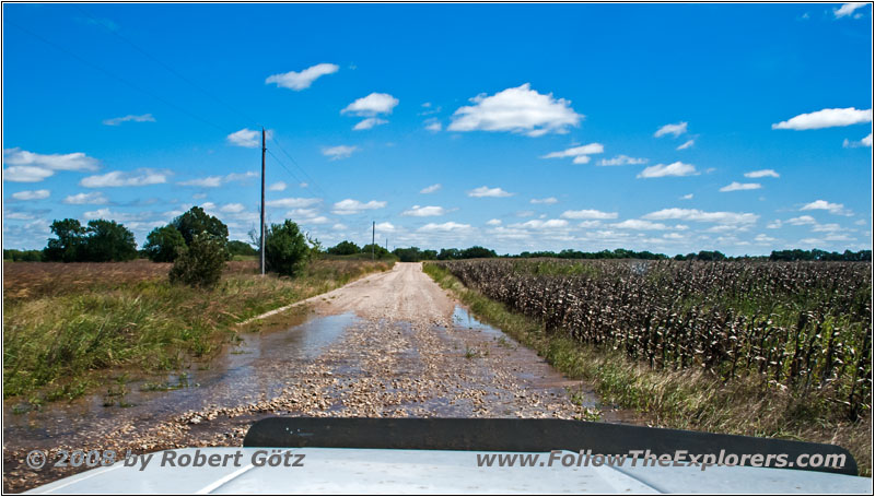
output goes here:
<path id="1" fill-rule="evenodd" d="M 3 149 L 3 180 L 38 182 L 56 170 L 97 170 L 97 159 L 82 152 L 38 154 L 19 147 Z"/>

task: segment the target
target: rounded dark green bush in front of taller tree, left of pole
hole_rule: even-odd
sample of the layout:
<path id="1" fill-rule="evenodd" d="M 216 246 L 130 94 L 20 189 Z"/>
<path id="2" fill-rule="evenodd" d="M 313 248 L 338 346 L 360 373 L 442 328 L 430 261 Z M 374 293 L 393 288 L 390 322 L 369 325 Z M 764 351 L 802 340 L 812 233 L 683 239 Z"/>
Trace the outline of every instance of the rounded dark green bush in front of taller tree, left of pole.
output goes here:
<path id="1" fill-rule="evenodd" d="M 225 241 L 209 233 L 195 235 L 171 268 L 171 283 L 211 288 L 222 277 L 228 252 Z"/>

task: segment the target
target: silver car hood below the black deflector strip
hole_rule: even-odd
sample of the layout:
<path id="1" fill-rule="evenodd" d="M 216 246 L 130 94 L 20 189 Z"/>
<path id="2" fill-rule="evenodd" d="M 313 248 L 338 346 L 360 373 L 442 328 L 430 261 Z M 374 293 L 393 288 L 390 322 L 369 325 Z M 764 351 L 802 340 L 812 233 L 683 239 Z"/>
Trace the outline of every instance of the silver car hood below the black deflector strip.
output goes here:
<path id="1" fill-rule="evenodd" d="M 255 466 L 258 451 L 179 449 L 194 455 L 243 452 L 226 468 L 171 468 L 164 452 L 140 470 L 116 463 L 32 489 L 28 494 L 872 494 L 871 478 L 766 468 L 532 466 L 479 468 L 482 451 L 282 449 L 303 466 Z M 264 453 L 264 452 L 262 452 Z M 509 453 L 509 452 L 502 452 Z M 522 452 L 521 452 L 522 453 Z M 548 454 L 541 455 L 546 460 Z M 296 458 L 295 458 L 296 459 Z"/>

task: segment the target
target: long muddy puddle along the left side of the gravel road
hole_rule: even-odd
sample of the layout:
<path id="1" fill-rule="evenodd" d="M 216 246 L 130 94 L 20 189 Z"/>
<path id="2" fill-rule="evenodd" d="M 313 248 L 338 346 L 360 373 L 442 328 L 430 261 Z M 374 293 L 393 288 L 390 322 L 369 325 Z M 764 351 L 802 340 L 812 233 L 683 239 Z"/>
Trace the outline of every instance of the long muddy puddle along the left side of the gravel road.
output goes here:
<path id="1" fill-rule="evenodd" d="M 119 381 L 72 402 L 54 402 L 21 412 L 21 403 L 4 402 L 7 446 L 48 447 L 100 437 L 125 422 L 155 423 L 210 405 L 236 406 L 279 394 L 295 369 L 312 363 L 343 331 L 359 321 L 353 313 L 320 316 L 283 330 L 242 333 L 209 368 Z"/>

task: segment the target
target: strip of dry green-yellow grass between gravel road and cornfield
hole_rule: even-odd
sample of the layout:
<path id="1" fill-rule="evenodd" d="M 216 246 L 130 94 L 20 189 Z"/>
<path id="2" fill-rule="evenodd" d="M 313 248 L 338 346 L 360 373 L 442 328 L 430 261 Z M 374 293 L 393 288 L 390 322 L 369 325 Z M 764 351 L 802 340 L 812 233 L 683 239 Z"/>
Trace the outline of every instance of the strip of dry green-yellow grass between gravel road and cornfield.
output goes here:
<path id="1" fill-rule="evenodd" d="M 836 443 L 853 454 L 861 475 L 872 475 L 870 419 L 848 422 L 824 397 L 769 387 L 755 377 L 723 382 L 699 370 L 656 371 L 617 351 L 547 332 L 542 322 L 467 288 L 436 264 L 425 263 L 423 271 L 478 319 L 535 350 L 568 377 L 591 383 L 604 404 L 634 410 L 651 426 Z"/>

